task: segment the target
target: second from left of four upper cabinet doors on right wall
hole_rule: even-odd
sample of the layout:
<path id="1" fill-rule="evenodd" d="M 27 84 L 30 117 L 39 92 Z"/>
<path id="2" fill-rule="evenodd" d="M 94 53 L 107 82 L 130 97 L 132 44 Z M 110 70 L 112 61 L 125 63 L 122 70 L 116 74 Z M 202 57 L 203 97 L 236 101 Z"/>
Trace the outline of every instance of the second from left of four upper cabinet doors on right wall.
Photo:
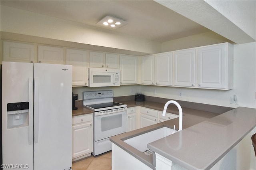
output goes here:
<path id="1" fill-rule="evenodd" d="M 172 85 L 172 52 L 155 55 L 156 85 Z"/>

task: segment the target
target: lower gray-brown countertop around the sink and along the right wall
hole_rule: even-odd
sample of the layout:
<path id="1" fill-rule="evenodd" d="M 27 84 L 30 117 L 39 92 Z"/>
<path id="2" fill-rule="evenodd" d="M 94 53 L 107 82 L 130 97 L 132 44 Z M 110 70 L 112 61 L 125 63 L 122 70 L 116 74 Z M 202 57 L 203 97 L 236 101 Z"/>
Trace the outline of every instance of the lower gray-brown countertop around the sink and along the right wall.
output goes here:
<path id="1" fill-rule="evenodd" d="M 134 101 L 122 101 L 121 103 L 125 103 L 128 107 L 142 106 L 142 107 L 147 107 L 147 108 L 156 109 L 156 110 L 162 110 L 164 107 L 164 103 L 158 103 L 158 102 L 152 102 L 152 101 L 136 102 L 136 103 Z M 183 129 L 191 127 L 202 121 L 206 121 L 212 117 L 216 117 L 220 115 L 218 113 L 200 111 L 197 109 L 190 109 L 186 107 L 182 107 L 182 110 L 183 110 Z M 178 108 L 175 105 L 169 105 L 167 112 L 178 114 Z M 138 160 L 140 160 L 150 168 L 155 169 L 153 165 L 152 154 L 151 155 L 143 154 L 139 150 L 133 148 L 132 146 L 124 142 L 124 140 L 128 138 L 132 138 L 134 136 L 138 136 L 140 134 L 149 132 L 151 130 L 154 130 L 160 127 L 173 128 L 174 125 L 178 127 L 179 125 L 178 118 L 113 136 L 110 138 L 110 141 L 116 144 L 117 146 L 119 146 L 120 148 L 124 149 L 126 152 L 128 152 L 129 154 L 131 154 L 132 156 L 134 156 L 135 158 L 137 158 Z"/>

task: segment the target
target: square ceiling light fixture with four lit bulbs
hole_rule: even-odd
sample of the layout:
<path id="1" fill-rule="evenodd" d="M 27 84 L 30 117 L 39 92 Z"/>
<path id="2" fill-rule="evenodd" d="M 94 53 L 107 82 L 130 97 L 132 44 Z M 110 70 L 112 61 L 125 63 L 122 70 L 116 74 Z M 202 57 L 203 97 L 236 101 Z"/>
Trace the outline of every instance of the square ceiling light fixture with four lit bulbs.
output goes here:
<path id="1" fill-rule="evenodd" d="M 100 20 L 96 25 L 109 27 L 109 28 L 120 28 L 121 26 L 126 25 L 128 22 L 124 21 L 121 18 L 114 16 L 105 16 Z"/>

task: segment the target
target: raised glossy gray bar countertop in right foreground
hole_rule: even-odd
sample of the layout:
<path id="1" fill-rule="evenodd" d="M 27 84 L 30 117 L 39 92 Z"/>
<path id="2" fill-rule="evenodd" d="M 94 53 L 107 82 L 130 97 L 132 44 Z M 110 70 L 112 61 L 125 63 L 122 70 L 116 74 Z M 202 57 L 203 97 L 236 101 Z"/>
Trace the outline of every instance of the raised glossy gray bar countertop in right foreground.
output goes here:
<path id="1" fill-rule="evenodd" d="M 184 168 L 210 169 L 255 126 L 256 109 L 238 107 L 152 142 L 148 148 Z"/>

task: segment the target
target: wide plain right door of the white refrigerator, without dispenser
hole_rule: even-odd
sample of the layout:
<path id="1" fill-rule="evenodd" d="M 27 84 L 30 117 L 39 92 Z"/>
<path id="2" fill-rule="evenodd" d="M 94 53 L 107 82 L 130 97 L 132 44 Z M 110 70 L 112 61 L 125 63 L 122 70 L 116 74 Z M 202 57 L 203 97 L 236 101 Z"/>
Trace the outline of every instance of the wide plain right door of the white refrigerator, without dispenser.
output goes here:
<path id="1" fill-rule="evenodd" d="M 34 64 L 34 168 L 72 166 L 72 66 Z"/>

